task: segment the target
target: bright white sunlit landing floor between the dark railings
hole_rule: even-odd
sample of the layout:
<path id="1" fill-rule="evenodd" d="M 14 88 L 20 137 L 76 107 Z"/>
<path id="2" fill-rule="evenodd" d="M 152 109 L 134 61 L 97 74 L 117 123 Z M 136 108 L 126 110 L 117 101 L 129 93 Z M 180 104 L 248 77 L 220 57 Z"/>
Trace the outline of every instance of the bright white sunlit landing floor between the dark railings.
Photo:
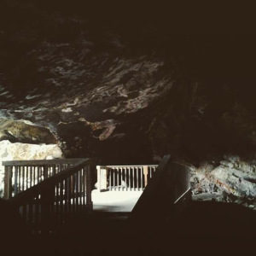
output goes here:
<path id="1" fill-rule="evenodd" d="M 101 212 L 131 212 L 143 191 L 104 191 L 93 190 L 91 198 L 93 210 Z"/>

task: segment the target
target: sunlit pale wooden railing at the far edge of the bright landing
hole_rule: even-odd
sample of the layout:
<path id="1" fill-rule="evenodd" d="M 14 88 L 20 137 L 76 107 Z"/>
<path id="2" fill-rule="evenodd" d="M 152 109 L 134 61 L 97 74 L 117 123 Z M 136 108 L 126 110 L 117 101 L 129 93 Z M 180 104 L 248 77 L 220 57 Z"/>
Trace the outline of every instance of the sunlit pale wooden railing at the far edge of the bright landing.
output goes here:
<path id="1" fill-rule="evenodd" d="M 154 176 L 156 165 L 96 166 L 99 191 L 142 191 Z"/>

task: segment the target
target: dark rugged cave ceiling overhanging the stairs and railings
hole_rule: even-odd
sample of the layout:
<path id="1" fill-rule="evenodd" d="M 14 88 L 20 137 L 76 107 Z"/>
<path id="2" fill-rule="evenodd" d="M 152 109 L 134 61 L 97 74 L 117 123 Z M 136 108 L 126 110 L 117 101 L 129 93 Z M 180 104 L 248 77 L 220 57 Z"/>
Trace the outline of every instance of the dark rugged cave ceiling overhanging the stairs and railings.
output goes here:
<path id="1" fill-rule="evenodd" d="M 1 116 L 102 163 L 252 156 L 255 38 L 178 35 L 167 18 L 110 9 L 3 1 Z"/>

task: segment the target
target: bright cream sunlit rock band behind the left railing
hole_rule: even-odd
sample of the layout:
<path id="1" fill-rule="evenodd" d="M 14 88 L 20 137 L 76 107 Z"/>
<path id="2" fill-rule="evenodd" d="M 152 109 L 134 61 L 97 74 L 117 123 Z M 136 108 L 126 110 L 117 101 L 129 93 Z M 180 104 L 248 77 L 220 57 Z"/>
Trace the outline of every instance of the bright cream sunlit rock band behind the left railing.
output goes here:
<path id="1" fill-rule="evenodd" d="M 0 142 L 0 195 L 3 195 L 4 168 L 2 161 L 6 160 L 46 160 L 61 158 L 62 152 L 55 144 L 10 143 Z"/>

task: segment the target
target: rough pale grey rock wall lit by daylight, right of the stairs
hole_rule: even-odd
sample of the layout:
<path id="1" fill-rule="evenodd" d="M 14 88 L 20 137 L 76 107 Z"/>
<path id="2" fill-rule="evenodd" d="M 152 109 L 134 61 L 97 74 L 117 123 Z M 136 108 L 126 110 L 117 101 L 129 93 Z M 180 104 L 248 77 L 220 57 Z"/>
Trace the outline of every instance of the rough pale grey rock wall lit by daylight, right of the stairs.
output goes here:
<path id="1" fill-rule="evenodd" d="M 229 201 L 256 210 L 256 162 L 225 156 L 219 165 L 192 168 L 195 200 Z"/>

